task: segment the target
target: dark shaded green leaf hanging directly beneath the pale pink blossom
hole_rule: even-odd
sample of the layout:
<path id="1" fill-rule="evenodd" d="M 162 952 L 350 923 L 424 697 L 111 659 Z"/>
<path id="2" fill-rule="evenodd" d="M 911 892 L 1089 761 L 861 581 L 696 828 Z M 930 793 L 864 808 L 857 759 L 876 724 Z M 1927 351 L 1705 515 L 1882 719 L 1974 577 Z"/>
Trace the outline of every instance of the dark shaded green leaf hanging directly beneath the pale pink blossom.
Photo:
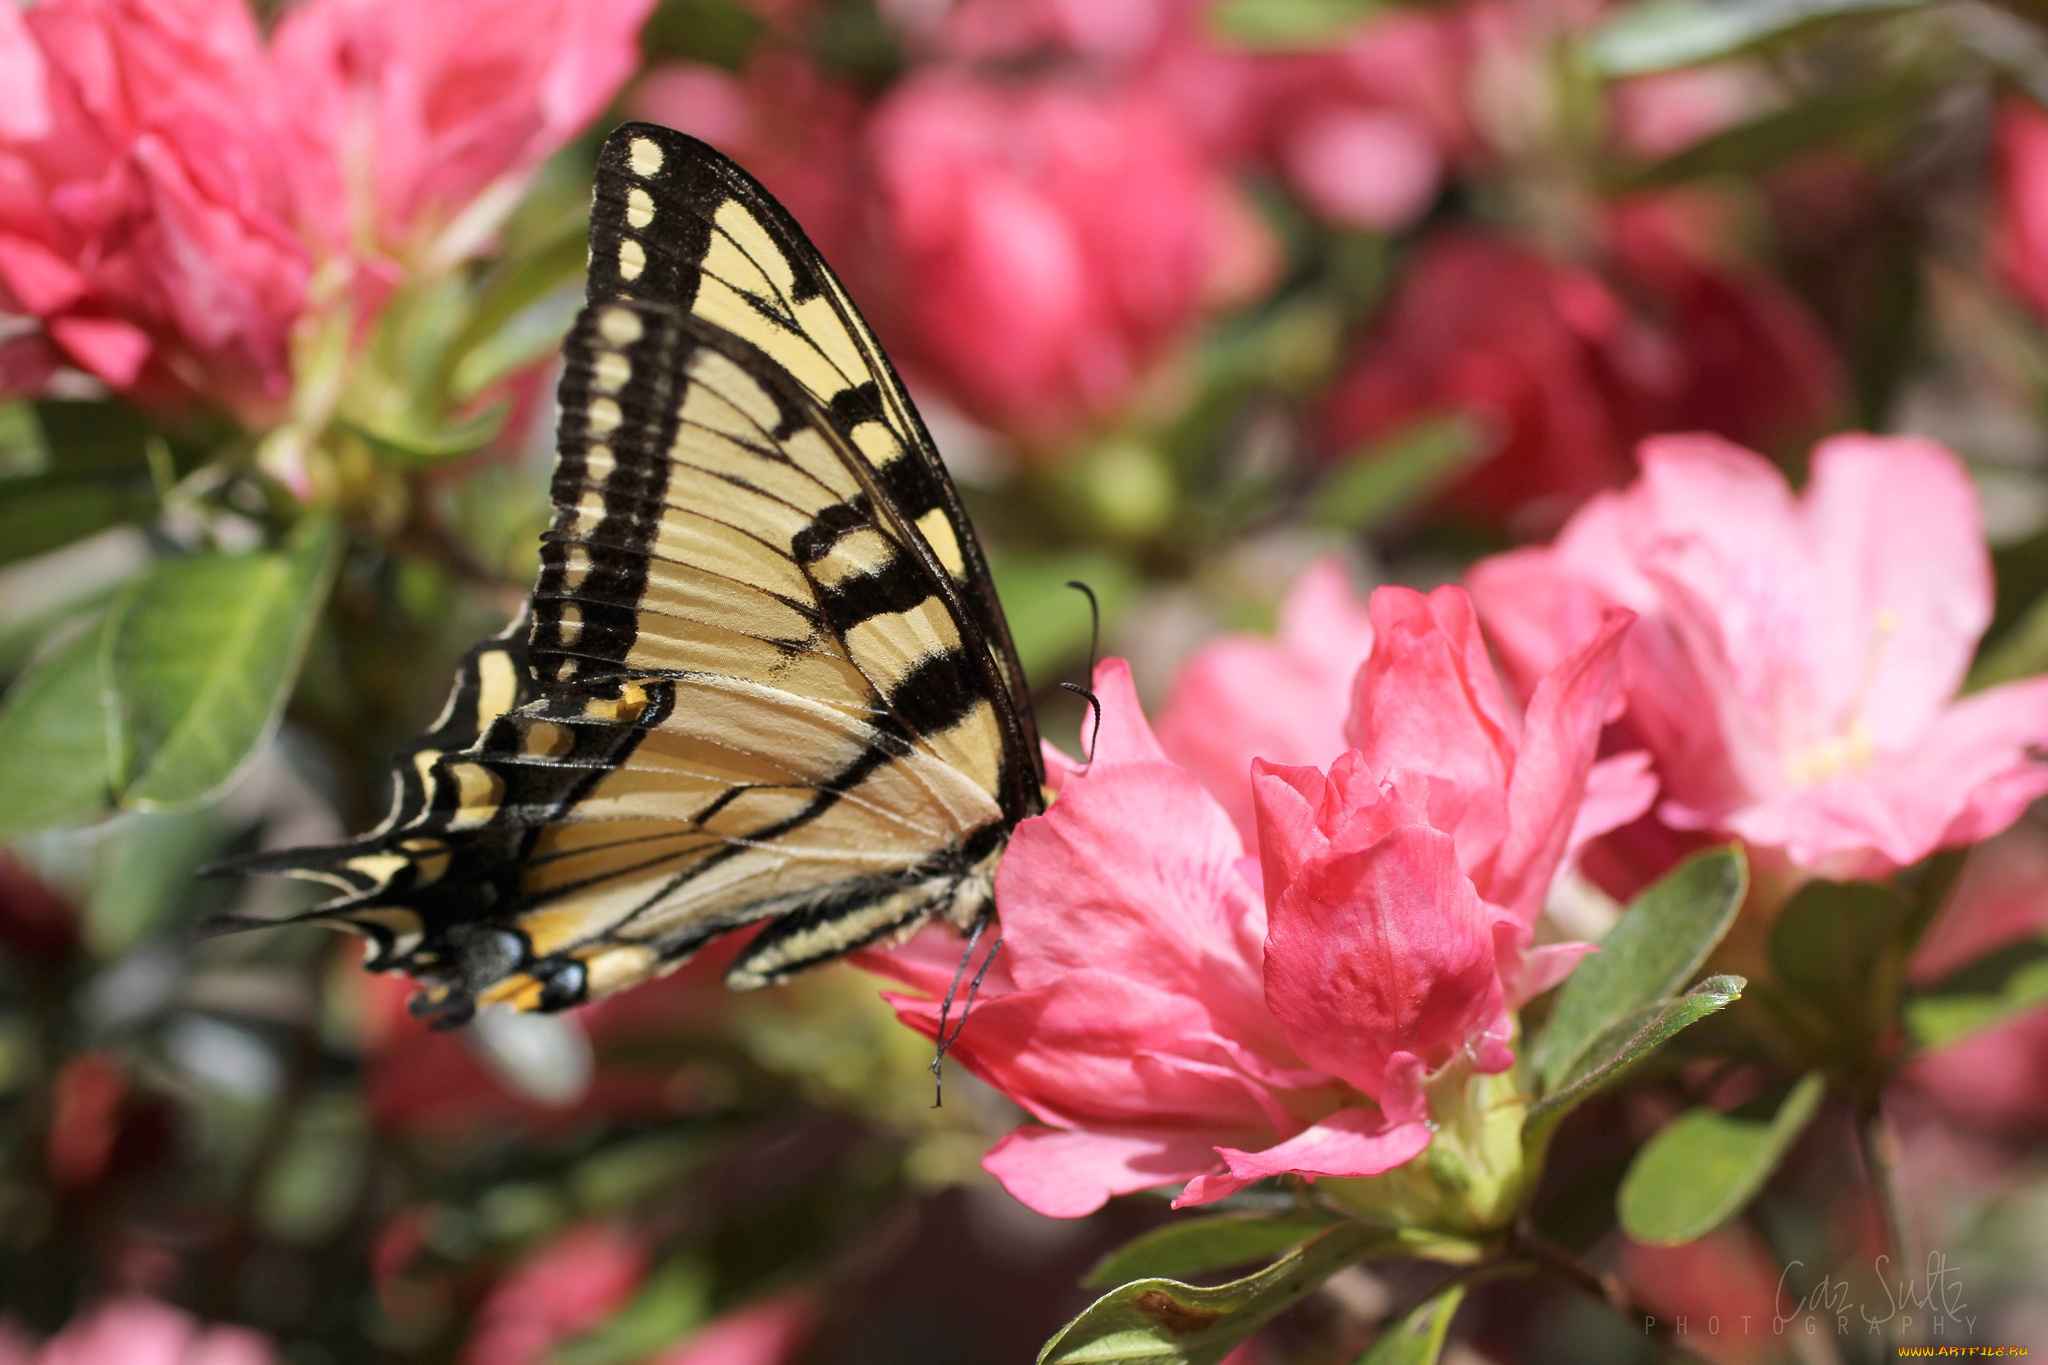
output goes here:
<path id="1" fill-rule="evenodd" d="M 1819 1058 L 1868 1070 L 1898 1017 L 1913 921 L 1890 886 L 1808 882 L 1772 927 L 1765 999 Z"/>

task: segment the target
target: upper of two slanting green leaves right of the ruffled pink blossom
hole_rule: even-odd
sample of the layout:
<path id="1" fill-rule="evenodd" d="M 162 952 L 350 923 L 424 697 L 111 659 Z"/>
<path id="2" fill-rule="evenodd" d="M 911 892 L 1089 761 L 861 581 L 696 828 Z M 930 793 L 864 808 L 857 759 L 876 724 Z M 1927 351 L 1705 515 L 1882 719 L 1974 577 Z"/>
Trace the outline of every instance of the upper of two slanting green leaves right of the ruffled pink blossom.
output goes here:
<path id="1" fill-rule="evenodd" d="M 1653 1001 L 1677 995 L 1735 923 L 1749 864 L 1735 845 L 1694 853 L 1630 902 L 1599 952 L 1565 978 L 1536 1040 L 1544 1089 L 1573 1068 L 1599 1033 Z"/>

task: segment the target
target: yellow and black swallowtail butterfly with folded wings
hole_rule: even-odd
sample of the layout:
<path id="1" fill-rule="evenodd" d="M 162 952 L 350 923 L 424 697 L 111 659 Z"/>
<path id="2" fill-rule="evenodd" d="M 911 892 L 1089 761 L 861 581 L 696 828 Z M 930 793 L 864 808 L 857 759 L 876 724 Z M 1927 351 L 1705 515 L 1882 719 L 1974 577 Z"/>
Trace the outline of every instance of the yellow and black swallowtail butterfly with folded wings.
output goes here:
<path id="1" fill-rule="evenodd" d="M 1024 669 L 924 422 L 791 215 L 709 145 L 598 156 L 532 598 L 395 757 L 391 812 L 244 860 L 336 888 L 416 1011 L 565 1009 L 760 925 L 778 982 L 987 923 L 1042 808 Z"/>

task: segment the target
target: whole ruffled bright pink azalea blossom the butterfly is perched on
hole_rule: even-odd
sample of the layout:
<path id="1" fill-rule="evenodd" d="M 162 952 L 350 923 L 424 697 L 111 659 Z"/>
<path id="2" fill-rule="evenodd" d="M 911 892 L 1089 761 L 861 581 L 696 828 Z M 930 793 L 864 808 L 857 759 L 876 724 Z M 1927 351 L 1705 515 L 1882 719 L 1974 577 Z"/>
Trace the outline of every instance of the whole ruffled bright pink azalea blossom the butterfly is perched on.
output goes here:
<path id="1" fill-rule="evenodd" d="M 1106 661 L 1092 761 L 1049 753 L 1059 800 L 997 872 L 1004 952 L 952 1052 L 1036 1119 L 985 1166 L 1030 1207 L 1079 1216 L 1151 1185 L 1186 1183 L 1194 1205 L 1421 1152 L 1423 1081 L 1468 1056 L 1503 1068 L 1505 1011 L 1583 952 L 1526 948 L 1575 833 L 1624 618 L 1522 722 L 1491 671 L 1473 673 L 1485 653 L 1462 591 L 1374 593 L 1372 628 L 1395 645 L 1360 671 L 1366 751 L 1329 778 L 1253 765 L 1264 872 L 1159 747 L 1128 667 Z M 1446 700 L 1460 720 L 1440 718 Z M 864 962 L 926 993 L 889 999 L 936 1036 L 956 958 L 958 939 L 928 933 Z"/>

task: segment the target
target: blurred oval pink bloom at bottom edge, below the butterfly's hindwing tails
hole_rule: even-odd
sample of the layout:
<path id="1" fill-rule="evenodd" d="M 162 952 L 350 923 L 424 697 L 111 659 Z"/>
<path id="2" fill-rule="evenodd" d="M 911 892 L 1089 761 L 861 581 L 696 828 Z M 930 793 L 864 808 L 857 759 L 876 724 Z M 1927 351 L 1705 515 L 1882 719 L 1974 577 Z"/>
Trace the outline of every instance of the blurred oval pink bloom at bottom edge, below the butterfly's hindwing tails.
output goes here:
<path id="1" fill-rule="evenodd" d="M 461 1359 L 539 1365 L 555 1345 L 625 1308 L 645 1275 L 639 1240 L 598 1224 L 571 1228 L 498 1281 Z"/>

